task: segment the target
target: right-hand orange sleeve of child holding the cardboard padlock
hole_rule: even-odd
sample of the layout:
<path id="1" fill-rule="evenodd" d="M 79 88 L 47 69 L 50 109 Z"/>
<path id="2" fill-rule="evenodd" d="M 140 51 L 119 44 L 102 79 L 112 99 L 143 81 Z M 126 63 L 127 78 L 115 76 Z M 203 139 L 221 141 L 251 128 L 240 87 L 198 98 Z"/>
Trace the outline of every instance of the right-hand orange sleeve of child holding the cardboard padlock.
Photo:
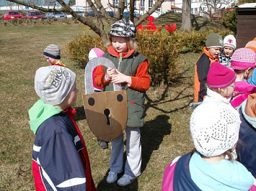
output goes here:
<path id="1" fill-rule="evenodd" d="M 149 89 L 150 78 L 149 78 L 149 61 L 144 60 L 141 65 L 138 66 L 135 76 L 131 77 L 130 88 L 138 91 L 146 91 Z"/>

